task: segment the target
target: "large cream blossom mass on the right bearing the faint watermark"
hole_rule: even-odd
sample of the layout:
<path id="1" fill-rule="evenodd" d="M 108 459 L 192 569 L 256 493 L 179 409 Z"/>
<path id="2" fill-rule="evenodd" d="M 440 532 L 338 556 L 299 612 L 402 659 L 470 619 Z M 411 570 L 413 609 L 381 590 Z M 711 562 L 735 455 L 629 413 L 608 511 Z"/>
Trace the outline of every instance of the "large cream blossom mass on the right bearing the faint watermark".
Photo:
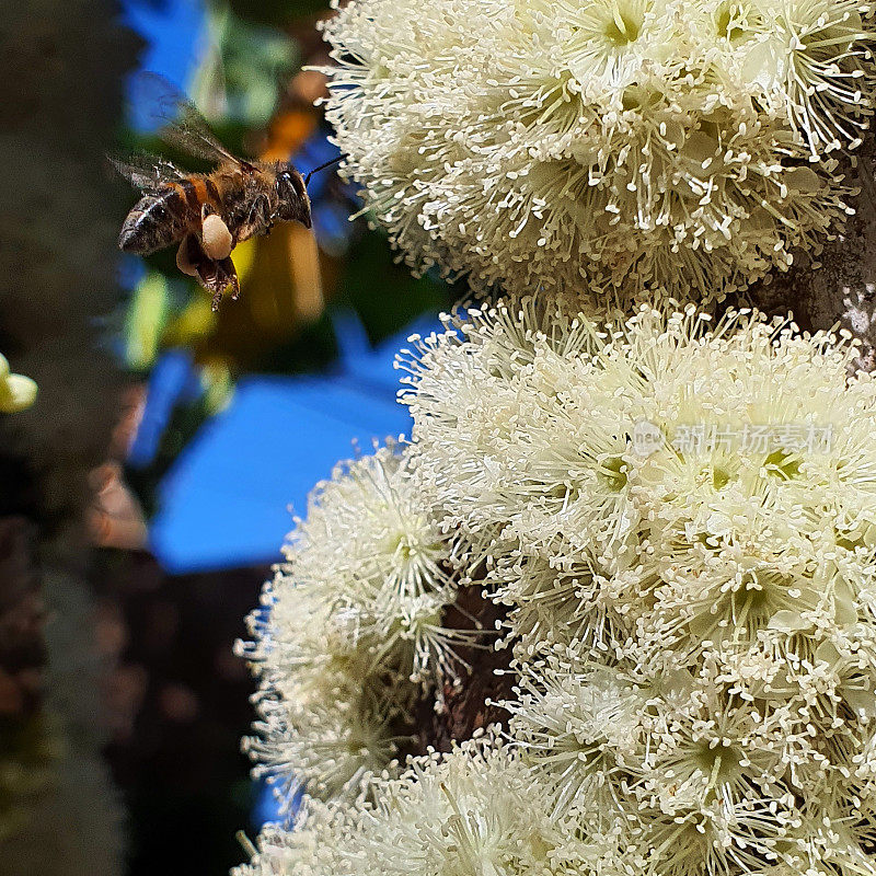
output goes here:
<path id="1" fill-rule="evenodd" d="M 450 327 L 406 362 L 415 470 L 492 557 L 508 744 L 556 817 L 655 876 L 876 873 L 876 381 L 855 345 L 531 299 Z"/>

